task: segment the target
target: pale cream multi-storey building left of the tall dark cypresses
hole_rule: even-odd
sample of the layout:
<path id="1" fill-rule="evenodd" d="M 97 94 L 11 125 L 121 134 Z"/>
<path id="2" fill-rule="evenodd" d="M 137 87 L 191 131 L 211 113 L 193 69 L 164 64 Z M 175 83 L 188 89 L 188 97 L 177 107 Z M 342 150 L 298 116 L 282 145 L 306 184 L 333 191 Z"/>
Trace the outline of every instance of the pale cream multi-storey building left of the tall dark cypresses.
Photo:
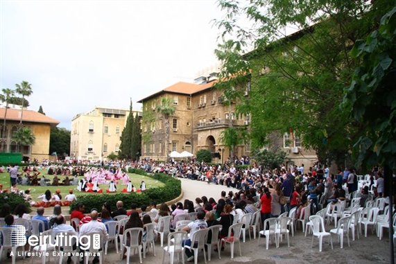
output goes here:
<path id="1" fill-rule="evenodd" d="M 71 121 L 70 157 L 103 161 L 111 153 L 117 155 L 129 112 L 129 109 L 94 107 L 75 116 Z"/>

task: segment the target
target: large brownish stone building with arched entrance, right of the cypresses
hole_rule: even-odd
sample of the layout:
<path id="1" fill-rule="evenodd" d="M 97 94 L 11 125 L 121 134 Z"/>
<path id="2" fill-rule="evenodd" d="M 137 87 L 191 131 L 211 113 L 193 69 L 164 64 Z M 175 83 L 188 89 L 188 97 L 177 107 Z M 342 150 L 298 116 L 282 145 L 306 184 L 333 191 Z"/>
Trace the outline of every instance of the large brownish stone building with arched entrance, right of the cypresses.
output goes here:
<path id="1" fill-rule="evenodd" d="M 213 75 L 203 80 L 211 80 Z M 175 114 L 169 118 L 170 137 L 169 152 L 183 152 L 187 150 L 194 155 L 198 150 L 205 149 L 210 152 L 223 154 L 222 158 L 213 159 L 220 163 L 230 157 L 230 150 L 221 143 L 221 132 L 230 126 L 249 127 L 250 116 L 236 116 L 235 105 L 238 99 L 231 104 L 225 104 L 223 91 L 214 89 L 214 81 L 203 84 L 178 82 L 155 94 L 138 101 L 143 104 L 142 111 L 142 148 L 141 157 L 165 161 L 167 158 L 165 142 L 164 118 L 155 111 L 162 97 L 173 99 Z M 248 86 L 246 86 L 248 87 Z M 249 96 L 245 86 L 242 96 Z M 298 139 L 291 139 L 285 134 L 279 137 L 279 147 L 283 148 L 288 157 L 286 165 L 304 164 L 306 168 L 312 166 L 317 160 L 315 152 L 304 150 Z M 282 146 L 283 145 L 283 146 Z M 250 146 L 236 146 L 234 156 L 250 157 Z"/>

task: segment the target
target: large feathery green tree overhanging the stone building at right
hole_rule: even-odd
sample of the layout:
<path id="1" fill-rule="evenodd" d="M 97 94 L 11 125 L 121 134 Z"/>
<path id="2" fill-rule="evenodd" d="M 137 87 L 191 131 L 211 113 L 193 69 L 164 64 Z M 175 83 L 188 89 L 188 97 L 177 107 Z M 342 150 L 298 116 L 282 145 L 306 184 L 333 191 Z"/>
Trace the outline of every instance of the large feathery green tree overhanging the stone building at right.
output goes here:
<path id="1" fill-rule="evenodd" d="M 360 130 L 339 107 L 357 65 L 350 50 L 390 2 L 219 1 L 227 16 L 216 21 L 223 30 L 216 54 L 224 81 L 218 87 L 226 91 L 251 80 L 250 96 L 236 113 L 252 116 L 253 148 L 266 145 L 273 131 L 291 131 L 320 161 L 345 159 Z M 242 25 L 239 17 L 252 24 Z M 286 26 L 298 33 L 286 36 Z"/>

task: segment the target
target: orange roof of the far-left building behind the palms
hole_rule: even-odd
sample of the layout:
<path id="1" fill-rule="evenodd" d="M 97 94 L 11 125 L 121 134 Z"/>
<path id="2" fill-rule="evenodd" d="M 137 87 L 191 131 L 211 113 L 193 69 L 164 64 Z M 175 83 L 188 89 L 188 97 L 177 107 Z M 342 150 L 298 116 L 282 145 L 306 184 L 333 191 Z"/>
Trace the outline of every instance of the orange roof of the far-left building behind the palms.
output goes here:
<path id="1" fill-rule="evenodd" d="M 6 113 L 6 108 L 0 108 L 0 120 L 4 120 L 4 114 Z M 21 120 L 21 109 L 7 109 L 7 121 L 20 121 Z M 24 109 L 22 116 L 22 121 L 32 122 L 32 123 L 47 123 L 53 126 L 58 125 L 60 122 L 39 112 Z"/>

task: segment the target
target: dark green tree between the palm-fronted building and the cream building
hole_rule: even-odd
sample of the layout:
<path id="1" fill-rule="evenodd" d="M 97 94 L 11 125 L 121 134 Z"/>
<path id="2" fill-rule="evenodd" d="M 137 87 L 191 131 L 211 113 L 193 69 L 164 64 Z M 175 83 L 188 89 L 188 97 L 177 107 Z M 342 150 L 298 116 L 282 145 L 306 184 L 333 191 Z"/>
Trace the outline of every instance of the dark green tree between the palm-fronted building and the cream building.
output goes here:
<path id="1" fill-rule="evenodd" d="M 64 127 L 53 127 L 49 136 L 49 154 L 70 155 L 71 132 Z"/>

